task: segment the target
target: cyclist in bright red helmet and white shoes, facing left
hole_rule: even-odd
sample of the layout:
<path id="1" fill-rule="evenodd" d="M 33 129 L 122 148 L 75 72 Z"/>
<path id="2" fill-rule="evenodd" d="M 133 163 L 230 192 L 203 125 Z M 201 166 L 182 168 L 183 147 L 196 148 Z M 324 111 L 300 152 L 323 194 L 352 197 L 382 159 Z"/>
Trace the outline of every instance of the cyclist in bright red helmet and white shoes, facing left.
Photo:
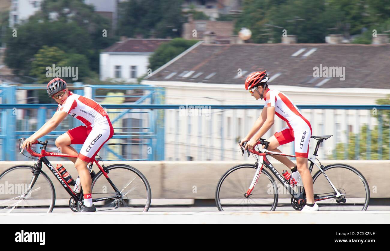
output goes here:
<path id="1" fill-rule="evenodd" d="M 302 116 L 298 107 L 280 91 L 268 88 L 268 76 L 266 71 L 251 73 L 245 80 L 245 89 L 256 99 L 266 101 L 261 116 L 256 120 L 255 125 L 249 131 L 243 142 L 248 141 L 246 148 L 252 149 L 257 141 L 263 137 L 274 123 L 275 114 L 287 123 L 287 127 L 276 132 L 267 141 L 268 150 L 282 153 L 278 146 L 294 141 L 296 165 L 284 156 L 272 156 L 282 162 L 292 171 L 292 177 L 298 181 L 297 185 L 305 186 L 307 204 L 302 211 L 317 211 L 318 205 L 314 203 L 313 180 L 307 165 L 309 141 L 312 135 L 312 128 L 307 119 Z"/>

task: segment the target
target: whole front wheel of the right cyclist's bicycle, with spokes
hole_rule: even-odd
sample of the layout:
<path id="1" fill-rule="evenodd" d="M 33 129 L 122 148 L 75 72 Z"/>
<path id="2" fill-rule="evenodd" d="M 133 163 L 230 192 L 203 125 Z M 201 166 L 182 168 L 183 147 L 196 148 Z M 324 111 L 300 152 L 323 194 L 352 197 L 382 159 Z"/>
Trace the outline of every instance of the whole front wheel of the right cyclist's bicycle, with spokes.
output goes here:
<path id="1" fill-rule="evenodd" d="M 273 177 L 264 168 L 251 194 L 249 196 L 246 195 L 257 168 L 252 164 L 241 164 L 232 167 L 222 175 L 215 191 L 218 210 L 275 210 L 278 203 L 277 185 Z"/>

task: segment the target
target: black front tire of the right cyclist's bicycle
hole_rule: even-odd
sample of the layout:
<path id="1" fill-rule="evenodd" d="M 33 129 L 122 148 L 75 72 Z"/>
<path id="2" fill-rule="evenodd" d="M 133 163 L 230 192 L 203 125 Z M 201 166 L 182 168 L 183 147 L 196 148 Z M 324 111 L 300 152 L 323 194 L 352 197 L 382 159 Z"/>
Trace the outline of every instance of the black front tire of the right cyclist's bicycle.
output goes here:
<path id="1" fill-rule="evenodd" d="M 221 187 L 222 187 L 222 184 L 223 182 L 226 180 L 226 178 L 229 176 L 229 174 L 232 174 L 234 171 L 237 171 L 239 169 L 242 169 L 242 168 L 253 168 L 254 170 L 256 170 L 256 166 L 254 164 L 240 164 L 240 165 L 237 165 L 237 166 L 234 166 L 232 168 L 230 168 L 229 170 L 227 170 L 220 178 L 220 180 L 218 181 L 218 184 L 217 184 L 217 187 L 216 187 L 216 190 L 215 190 L 215 202 L 216 202 L 216 205 L 218 207 L 218 210 L 219 211 L 226 211 L 226 210 L 223 210 L 223 203 L 221 203 Z M 260 168 L 260 167 L 257 167 L 257 168 Z M 249 172 L 250 173 L 250 172 Z M 242 191 L 239 192 L 239 194 L 242 193 L 242 195 L 244 196 L 244 193 L 246 192 L 245 189 L 248 189 L 249 186 L 250 186 L 250 183 L 252 182 L 252 179 L 253 179 L 253 176 L 254 176 L 255 172 L 252 173 L 252 176 L 250 177 L 250 182 L 246 182 L 247 184 L 245 184 L 245 187 L 242 188 Z M 263 176 L 260 176 L 260 177 L 264 177 L 264 175 L 268 178 L 269 182 L 271 183 L 271 186 L 274 190 L 274 196 L 273 196 L 273 202 L 271 204 L 271 207 L 269 210 L 261 210 L 261 211 L 274 211 L 276 206 L 277 206 L 277 203 L 278 203 L 278 188 L 277 188 L 277 183 L 275 182 L 274 178 L 268 173 L 268 171 L 263 168 L 262 169 L 262 173 L 261 175 Z M 260 180 L 259 180 L 260 181 Z M 259 189 L 259 183 L 257 183 L 256 187 L 257 189 Z M 255 187 L 255 188 L 256 188 Z M 254 189 L 255 190 L 255 189 Z M 244 199 L 245 197 L 242 197 L 242 198 L 237 198 L 239 200 L 241 199 Z M 249 198 L 248 198 L 249 199 Z M 230 199 L 231 200 L 231 199 Z M 236 198 L 234 198 L 234 200 L 236 200 Z M 270 199 L 267 199 L 268 201 Z M 244 199 L 245 201 L 245 199 Z M 249 200 L 248 200 L 249 201 Z M 245 204 L 245 203 L 244 203 Z M 243 203 L 241 203 L 240 205 L 243 206 Z M 234 208 L 239 208 L 240 205 L 235 205 L 233 206 Z M 246 204 L 248 205 L 248 204 Z M 252 205 L 252 204 L 251 204 Z M 225 206 L 225 209 L 227 209 L 227 206 Z M 254 208 L 251 208 L 251 209 L 254 209 Z"/>

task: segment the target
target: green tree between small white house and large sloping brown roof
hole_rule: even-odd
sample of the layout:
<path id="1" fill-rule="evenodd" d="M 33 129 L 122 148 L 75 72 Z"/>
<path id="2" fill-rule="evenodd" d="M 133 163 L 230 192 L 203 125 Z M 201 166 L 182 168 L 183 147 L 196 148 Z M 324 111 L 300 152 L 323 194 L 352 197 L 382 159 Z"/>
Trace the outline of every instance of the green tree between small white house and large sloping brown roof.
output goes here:
<path id="1" fill-rule="evenodd" d="M 161 44 L 153 55 L 149 58 L 149 68 L 154 71 L 164 65 L 180 53 L 184 52 L 192 45 L 197 43 L 197 40 L 186 40 L 183 38 L 175 38 L 168 43 Z"/>

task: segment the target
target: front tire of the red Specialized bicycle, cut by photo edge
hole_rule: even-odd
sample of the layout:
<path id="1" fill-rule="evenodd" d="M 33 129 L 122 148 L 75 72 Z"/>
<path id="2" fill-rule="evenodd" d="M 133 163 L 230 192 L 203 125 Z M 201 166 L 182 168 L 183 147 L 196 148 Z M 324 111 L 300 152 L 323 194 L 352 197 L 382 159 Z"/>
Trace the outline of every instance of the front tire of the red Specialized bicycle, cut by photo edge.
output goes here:
<path id="1" fill-rule="evenodd" d="M 0 174 L 0 182 L 1 182 L 1 179 L 2 178 L 4 178 L 4 176 L 5 175 L 7 175 L 7 174 L 9 174 L 11 171 L 14 171 L 14 170 L 17 170 L 17 169 L 22 169 L 22 168 L 24 168 L 24 169 L 28 169 L 28 171 L 29 171 L 29 173 L 31 174 L 31 177 L 33 176 L 33 174 L 31 173 L 31 171 L 32 171 L 32 169 L 34 168 L 33 166 L 30 166 L 30 165 L 17 165 L 17 166 L 12 166 L 12 167 L 10 167 L 10 168 L 8 168 L 7 170 L 5 170 L 2 174 Z M 51 180 L 50 180 L 50 178 L 48 177 L 48 175 L 46 174 L 46 173 L 44 173 L 44 171 L 42 171 L 41 170 L 41 172 L 40 172 L 40 174 L 39 174 L 39 176 L 38 176 L 38 178 L 41 176 L 41 175 L 43 175 L 43 177 L 44 177 L 44 179 L 48 182 L 48 185 L 49 185 L 49 187 L 50 187 L 50 190 L 51 190 L 51 202 L 50 202 L 50 205 L 48 206 L 48 210 L 47 210 L 47 213 L 50 213 L 50 212 L 52 212 L 53 211 L 53 208 L 54 208 L 54 205 L 55 205 L 55 189 L 54 189 L 54 185 L 53 185 L 53 183 L 51 182 Z M 30 181 L 31 180 L 31 178 L 28 178 L 28 180 Z M 5 181 L 7 181 L 7 180 L 5 180 Z M 37 183 L 35 183 L 34 184 L 34 186 L 36 185 Z M 34 186 L 31 188 L 32 190 L 34 189 Z M 4 196 L 5 197 L 5 196 Z M 20 197 L 20 196 L 19 196 Z M 16 201 L 16 198 L 14 198 L 15 199 L 15 201 Z M 14 200 L 14 199 L 11 199 L 12 201 Z M 9 200 L 9 201 L 11 201 L 11 200 Z M 6 203 L 8 203 L 8 201 L 3 201 L 3 199 L 0 199 L 0 201 L 2 201 L 3 202 L 3 205 L 5 206 L 6 205 Z M 20 199 L 18 200 L 18 201 L 20 201 Z M 34 201 L 34 203 L 33 204 L 39 204 L 39 203 L 43 203 L 43 200 L 41 199 L 41 200 L 39 200 L 39 199 L 37 199 L 37 201 L 39 201 L 39 202 L 35 202 Z M 5 209 L 5 211 L 9 211 L 9 210 L 7 210 L 7 208 L 9 207 L 9 206 L 6 206 L 5 208 L 2 208 L 2 202 L 0 202 L 0 212 L 2 212 L 2 210 L 4 210 Z M 25 208 L 24 206 L 23 207 L 21 207 L 20 209 L 23 209 L 23 210 L 14 210 L 14 208 L 10 211 L 10 212 L 13 212 L 13 213 L 17 213 L 17 212 L 25 212 L 25 211 L 27 211 L 28 210 L 28 212 L 33 212 L 34 210 L 33 209 L 35 209 L 36 211 L 39 211 L 39 212 L 42 212 L 42 210 L 38 210 L 39 208 L 42 208 L 42 206 L 40 205 L 40 206 L 36 206 L 36 207 L 33 207 L 33 206 L 30 206 L 30 207 L 28 207 L 28 208 Z M 19 208 L 18 208 L 19 209 Z M 43 208 L 44 209 L 44 208 Z"/>

